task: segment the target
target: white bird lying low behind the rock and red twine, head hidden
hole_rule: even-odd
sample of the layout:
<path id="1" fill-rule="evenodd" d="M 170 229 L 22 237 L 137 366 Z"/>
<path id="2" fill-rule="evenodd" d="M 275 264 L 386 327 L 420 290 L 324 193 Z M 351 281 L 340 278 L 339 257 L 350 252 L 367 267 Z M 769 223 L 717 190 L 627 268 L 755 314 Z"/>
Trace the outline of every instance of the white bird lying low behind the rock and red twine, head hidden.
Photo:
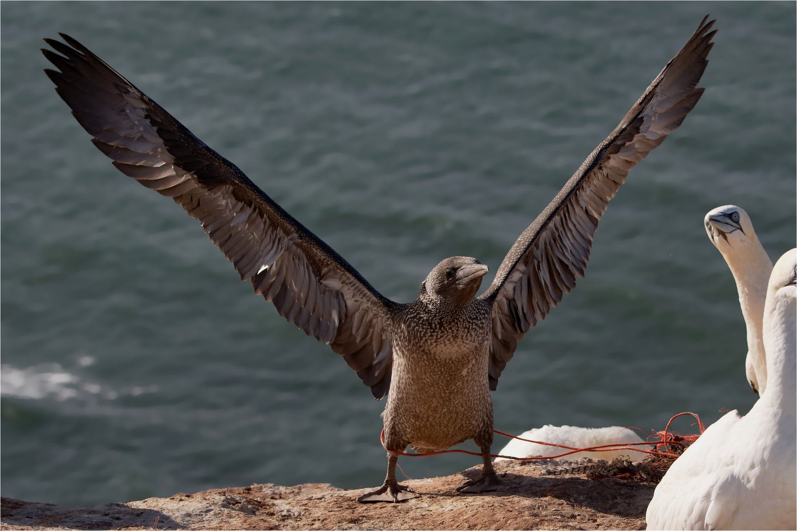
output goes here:
<path id="1" fill-rule="evenodd" d="M 534 428 L 520 434 L 524 439 L 532 439 L 541 443 L 563 444 L 564 446 L 575 448 L 586 448 L 600 446 L 603 444 L 617 444 L 621 446 L 627 443 L 644 443 L 645 441 L 630 428 L 622 426 L 610 426 L 609 428 L 579 428 L 578 426 L 552 426 L 548 424 L 542 428 Z M 648 449 L 648 448 L 646 448 Z M 518 439 L 512 439 L 501 448 L 500 455 L 508 455 L 523 459 L 525 457 L 550 457 L 569 451 L 565 448 L 548 446 L 546 444 L 528 443 Z M 617 457 L 628 457 L 638 459 L 642 454 L 630 450 L 611 450 L 611 451 L 579 451 L 575 454 L 564 455 L 556 459 L 575 461 L 588 457 L 590 459 L 603 459 L 611 461 Z M 506 461 L 506 458 L 499 457 L 496 461 Z"/>

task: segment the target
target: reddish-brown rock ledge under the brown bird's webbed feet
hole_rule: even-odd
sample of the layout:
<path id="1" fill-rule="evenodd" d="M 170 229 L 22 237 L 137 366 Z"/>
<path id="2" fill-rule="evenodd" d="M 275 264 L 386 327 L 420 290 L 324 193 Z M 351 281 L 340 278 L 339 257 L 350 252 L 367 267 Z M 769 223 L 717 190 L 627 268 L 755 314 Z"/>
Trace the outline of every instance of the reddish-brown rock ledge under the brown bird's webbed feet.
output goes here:
<path id="1" fill-rule="evenodd" d="M 458 494 L 465 470 L 406 480 L 420 498 L 355 501 L 367 489 L 253 485 L 104 506 L 60 507 L 2 498 L 2 529 L 645 529 L 654 486 L 616 478 L 548 475 L 556 462 L 496 464 L 510 486 Z M 566 466 L 562 464 L 561 466 Z"/>

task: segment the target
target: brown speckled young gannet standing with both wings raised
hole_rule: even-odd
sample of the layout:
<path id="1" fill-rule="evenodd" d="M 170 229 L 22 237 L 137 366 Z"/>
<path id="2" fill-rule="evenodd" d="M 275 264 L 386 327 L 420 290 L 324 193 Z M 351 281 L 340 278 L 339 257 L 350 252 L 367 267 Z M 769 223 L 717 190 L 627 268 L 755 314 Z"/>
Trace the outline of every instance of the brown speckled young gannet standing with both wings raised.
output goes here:
<path id="1" fill-rule="evenodd" d="M 355 369 L 383 413 L 387 478 L 360 502 L 417 496 L 395 478 L 397 455 L 473 439 L 484 457 L 479 478 L 457 490 L 501 486 L 490 462 L 489 392 L 517 342 L 583 277 L 592 237 L 628 171 L 673 132 L 700 99 L 697 82 L 716 31 L 701 22 L 628 114 L 516 240 L 489 289 L 487 267 L 443 260 L 400 304 L 371 287 L 327 244 L 281 209 L 226 158 L 72 37 L 45 39 L 59 71 L 45 72 L 73 115 L 113 165 L 171 197 L 198 219 L 255 293 Z M 59 55 L 60 54 L 60 55 Z"/>

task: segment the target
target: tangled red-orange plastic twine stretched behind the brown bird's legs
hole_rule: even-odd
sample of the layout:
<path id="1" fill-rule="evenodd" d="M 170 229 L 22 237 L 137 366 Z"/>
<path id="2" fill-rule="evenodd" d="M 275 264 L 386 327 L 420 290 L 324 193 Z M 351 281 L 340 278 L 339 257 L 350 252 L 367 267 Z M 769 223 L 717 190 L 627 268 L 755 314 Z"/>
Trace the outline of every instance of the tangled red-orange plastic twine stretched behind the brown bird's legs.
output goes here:
<path id="1" fill-rule="evenodd" d="M 673 440 L 672 439 L 673 435 L 669 432 L 669 424 L 671 424 L 673 422 L 673 420 L 675 420 L 677 417 L 682 416 L 682 415 L 691 415 L 691 416 L 695 417 L 695 419 L 697 419 L 697 425 L 700 428 L 700 433 L 702 435 L 703 431 L 705 431 L 705 425 L 700 420 L 700 417 L 697 416 L 693 412 L 678 413 L 676 416 L 671 417 L 669 419 L 669 421 L 667 422 L 667 426 L 664 428 L 664 431 L 657 431 L 654 435 L 650 435 L 651 437 L 652 436 L 658 436 L 658 437 L 660 437 L 660 439 L 659 440 L 655 440 L 655 441 L 646 442 L 646 443 L 625 443 L 625 444 L 620 444 L 620 445 L 618 445 L 618 444 L 601 444 L 599 446 L 575 448 L 575 447 L 565 446 L 563 444 L 544 443 L 542 441 L 524 439 L 523 437 L 518 437 L 517 435 L 512 435 L 512 434 L 509 434 L 509 433 L 505 433 L 505 431 L 493 430 L 494 432 L 496 432 L 499 435 L 505 435 L 507 437 L 512 437 L 512 439 L 520 439 L 521 441 L 526 441 L 527 443 L 543 444 L 544 446 L 559 447 L 559 448 L 562 448 L 562 449 L 567 450 L 567 451 L 565 451 L 565 452 L 563 452 L 561 454 L 558 454 L 558 455 L 548 455 L 546 457 L 524 457 L 524 458 L 520 458 L 520 457 L 512 457 L 512 455 L 501 455 L 501 454 L 490 454 L 490 457 L 501 457 L 501 458 L 504 458 L 504 459 L 515 459 L 517 461 L 532 461 L 534 459 L 558 459 L 558 458 L 563 457 L 565 455 L 575 454 L 575 453 L 577 453 L 579 451 L 630 450 L 630 451 L 638 451 L 638 452 L 641 452 L 643 454 L 658 455 L 659 457 L 677 458 L 678 457 L 677 454 L 673 454 L 671 451 L 669 451 L 669 444 L 677 444 L 677 445 L 679 445 L 681 447 L 685 447 L 685 446 L 687 446 L 687 444 L 685 444 L 685 443 L 693 443 L 694 441 L 697 440 L 698 437 L 700 437 L 700 435 L 677 435 L 677 437 L 679 439 L 681 439 L 681 440 Z M 387 447 L 385 447 L 385 430 L 384 430 L 384 428 L 382 429 L 382 433 L 379 434 L 379 441 L 382 443 L 382 446 L 387 450 Z M 685 443 L 681 442 L 681 441 L 685 441 Z M 652 445 L 654 447 L 654 450 L 643 450 L 642 448 L 636 448 L 638 446 L 650 446 L 650 445 Z M 655 450 L 655 448 L 658 447 L 658 446 L 663 446 L 665 451 L 657 451 L 657 450 Z M 426 457 L 428 455 L 450 454 L 450 453 L 453 453 L 453 452 L 457 452 L 457 453 L 460 453 L 460 454 L 468 454 L 468 455 L 478 455 L 478 456 L 481 457 L 481 453 L 477 453 L 475 451 L 459 450 L 459 449 L 427 451 L 427 452 L 422 453 L 422 454 L 408 454 L 405 451 L 398 451 L 398 450 L 387 450 L 387 451 L 389 451 L 389 452 L 391 452 L 392 454 L 395 454 L 395 455 L 406 455 L 407 457 Z"/>

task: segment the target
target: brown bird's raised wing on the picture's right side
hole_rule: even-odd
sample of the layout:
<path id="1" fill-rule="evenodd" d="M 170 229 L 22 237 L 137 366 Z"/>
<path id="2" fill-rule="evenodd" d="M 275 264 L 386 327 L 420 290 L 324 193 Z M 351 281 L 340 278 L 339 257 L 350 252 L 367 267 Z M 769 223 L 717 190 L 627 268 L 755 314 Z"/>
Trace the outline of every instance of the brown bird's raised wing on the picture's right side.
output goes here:
<path id="1" fill-rule="evenodd" d="M 490 388 L 531 326 L 583 278 L 592 236 L 628 171 L 681 125 L 703 94 L 696 88 L 713 46 L 704 18 L 625 118 L 516 240 L 488 291 L 493 303 Z"/>

